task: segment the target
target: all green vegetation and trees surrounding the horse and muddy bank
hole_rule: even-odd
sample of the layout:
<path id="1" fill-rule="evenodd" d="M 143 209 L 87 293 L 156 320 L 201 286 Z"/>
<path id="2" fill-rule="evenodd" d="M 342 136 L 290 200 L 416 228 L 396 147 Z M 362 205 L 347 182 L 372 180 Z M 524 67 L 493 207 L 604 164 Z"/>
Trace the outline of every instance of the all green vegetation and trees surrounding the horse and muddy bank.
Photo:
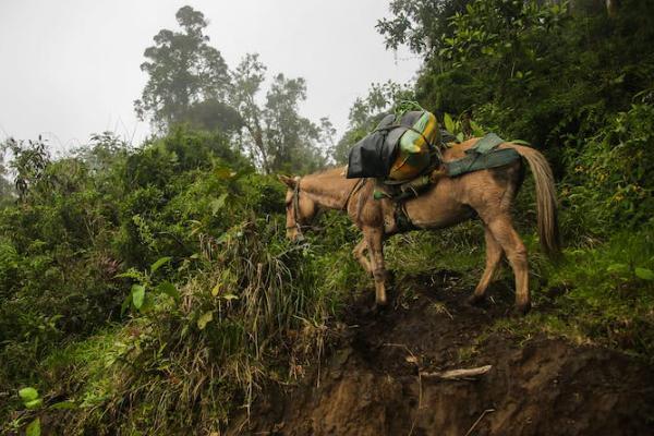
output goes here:
<path id="1" fill-rule="evenodd" d="M 182 8 L 183 32 L 161 31 L 142 65 L 136 110 L 155 136 L 134 147 L 97 134 L 57 159 L 40 138 L 2 146 L 13 183 L 0 184 L 0 432 L 219 434 L 265 387 L 319 367 L 372 282 L 343 216 L 323 215 L 302 245 L 286 240 L 275 173 L 342 162 L 405 98 L 455 133 L 528 141 L 557 177 L 562 258 L 538 252 L 528 179 L 516 219 L 534 308 L 493 316 L 471 341 L 544 335 L 653 364 L 654 2 L 617 4 L 392 0 L 377 29 L 424 64 L 415 84 L 354 101 L 338 142 L 327 119 L 300 114 L 301 77 L 276 75 L 257 105 L 258 58 L 230 70 L 202 13 Z M 193 71 L 213 73 L 186 74 L 161 47 L 202 53 Z M 180 90 L 173 73 L 192 80 Z M 471 291 L 483 232 L 409 233 L 386 255 L 397 283 L 448 271 Z M 398 304 L 413 291 L 398 286 Z"/>

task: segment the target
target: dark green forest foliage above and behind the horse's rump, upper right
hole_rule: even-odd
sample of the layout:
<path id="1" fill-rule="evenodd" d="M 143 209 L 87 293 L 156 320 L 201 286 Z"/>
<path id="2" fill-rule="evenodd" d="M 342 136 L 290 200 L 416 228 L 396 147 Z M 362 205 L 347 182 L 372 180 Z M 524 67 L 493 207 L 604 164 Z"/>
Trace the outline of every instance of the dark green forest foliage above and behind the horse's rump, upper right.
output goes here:
<path id="1" fill-rule="evenodd" d="M 393 1 L 395 17 L 380 22 L 387 44 L 409 44 L 425 58 L 421 104 L 459 113 L 463 128 L 475 122 L 544 149 L 562 181 L 569 239 L 645 222 L 654 32 L 644 16 L 652 3 L 627 0 L 610 14 L 591 1 L 446 3 Z M 435 49 L 412 43 L 419 36 Z"/>

